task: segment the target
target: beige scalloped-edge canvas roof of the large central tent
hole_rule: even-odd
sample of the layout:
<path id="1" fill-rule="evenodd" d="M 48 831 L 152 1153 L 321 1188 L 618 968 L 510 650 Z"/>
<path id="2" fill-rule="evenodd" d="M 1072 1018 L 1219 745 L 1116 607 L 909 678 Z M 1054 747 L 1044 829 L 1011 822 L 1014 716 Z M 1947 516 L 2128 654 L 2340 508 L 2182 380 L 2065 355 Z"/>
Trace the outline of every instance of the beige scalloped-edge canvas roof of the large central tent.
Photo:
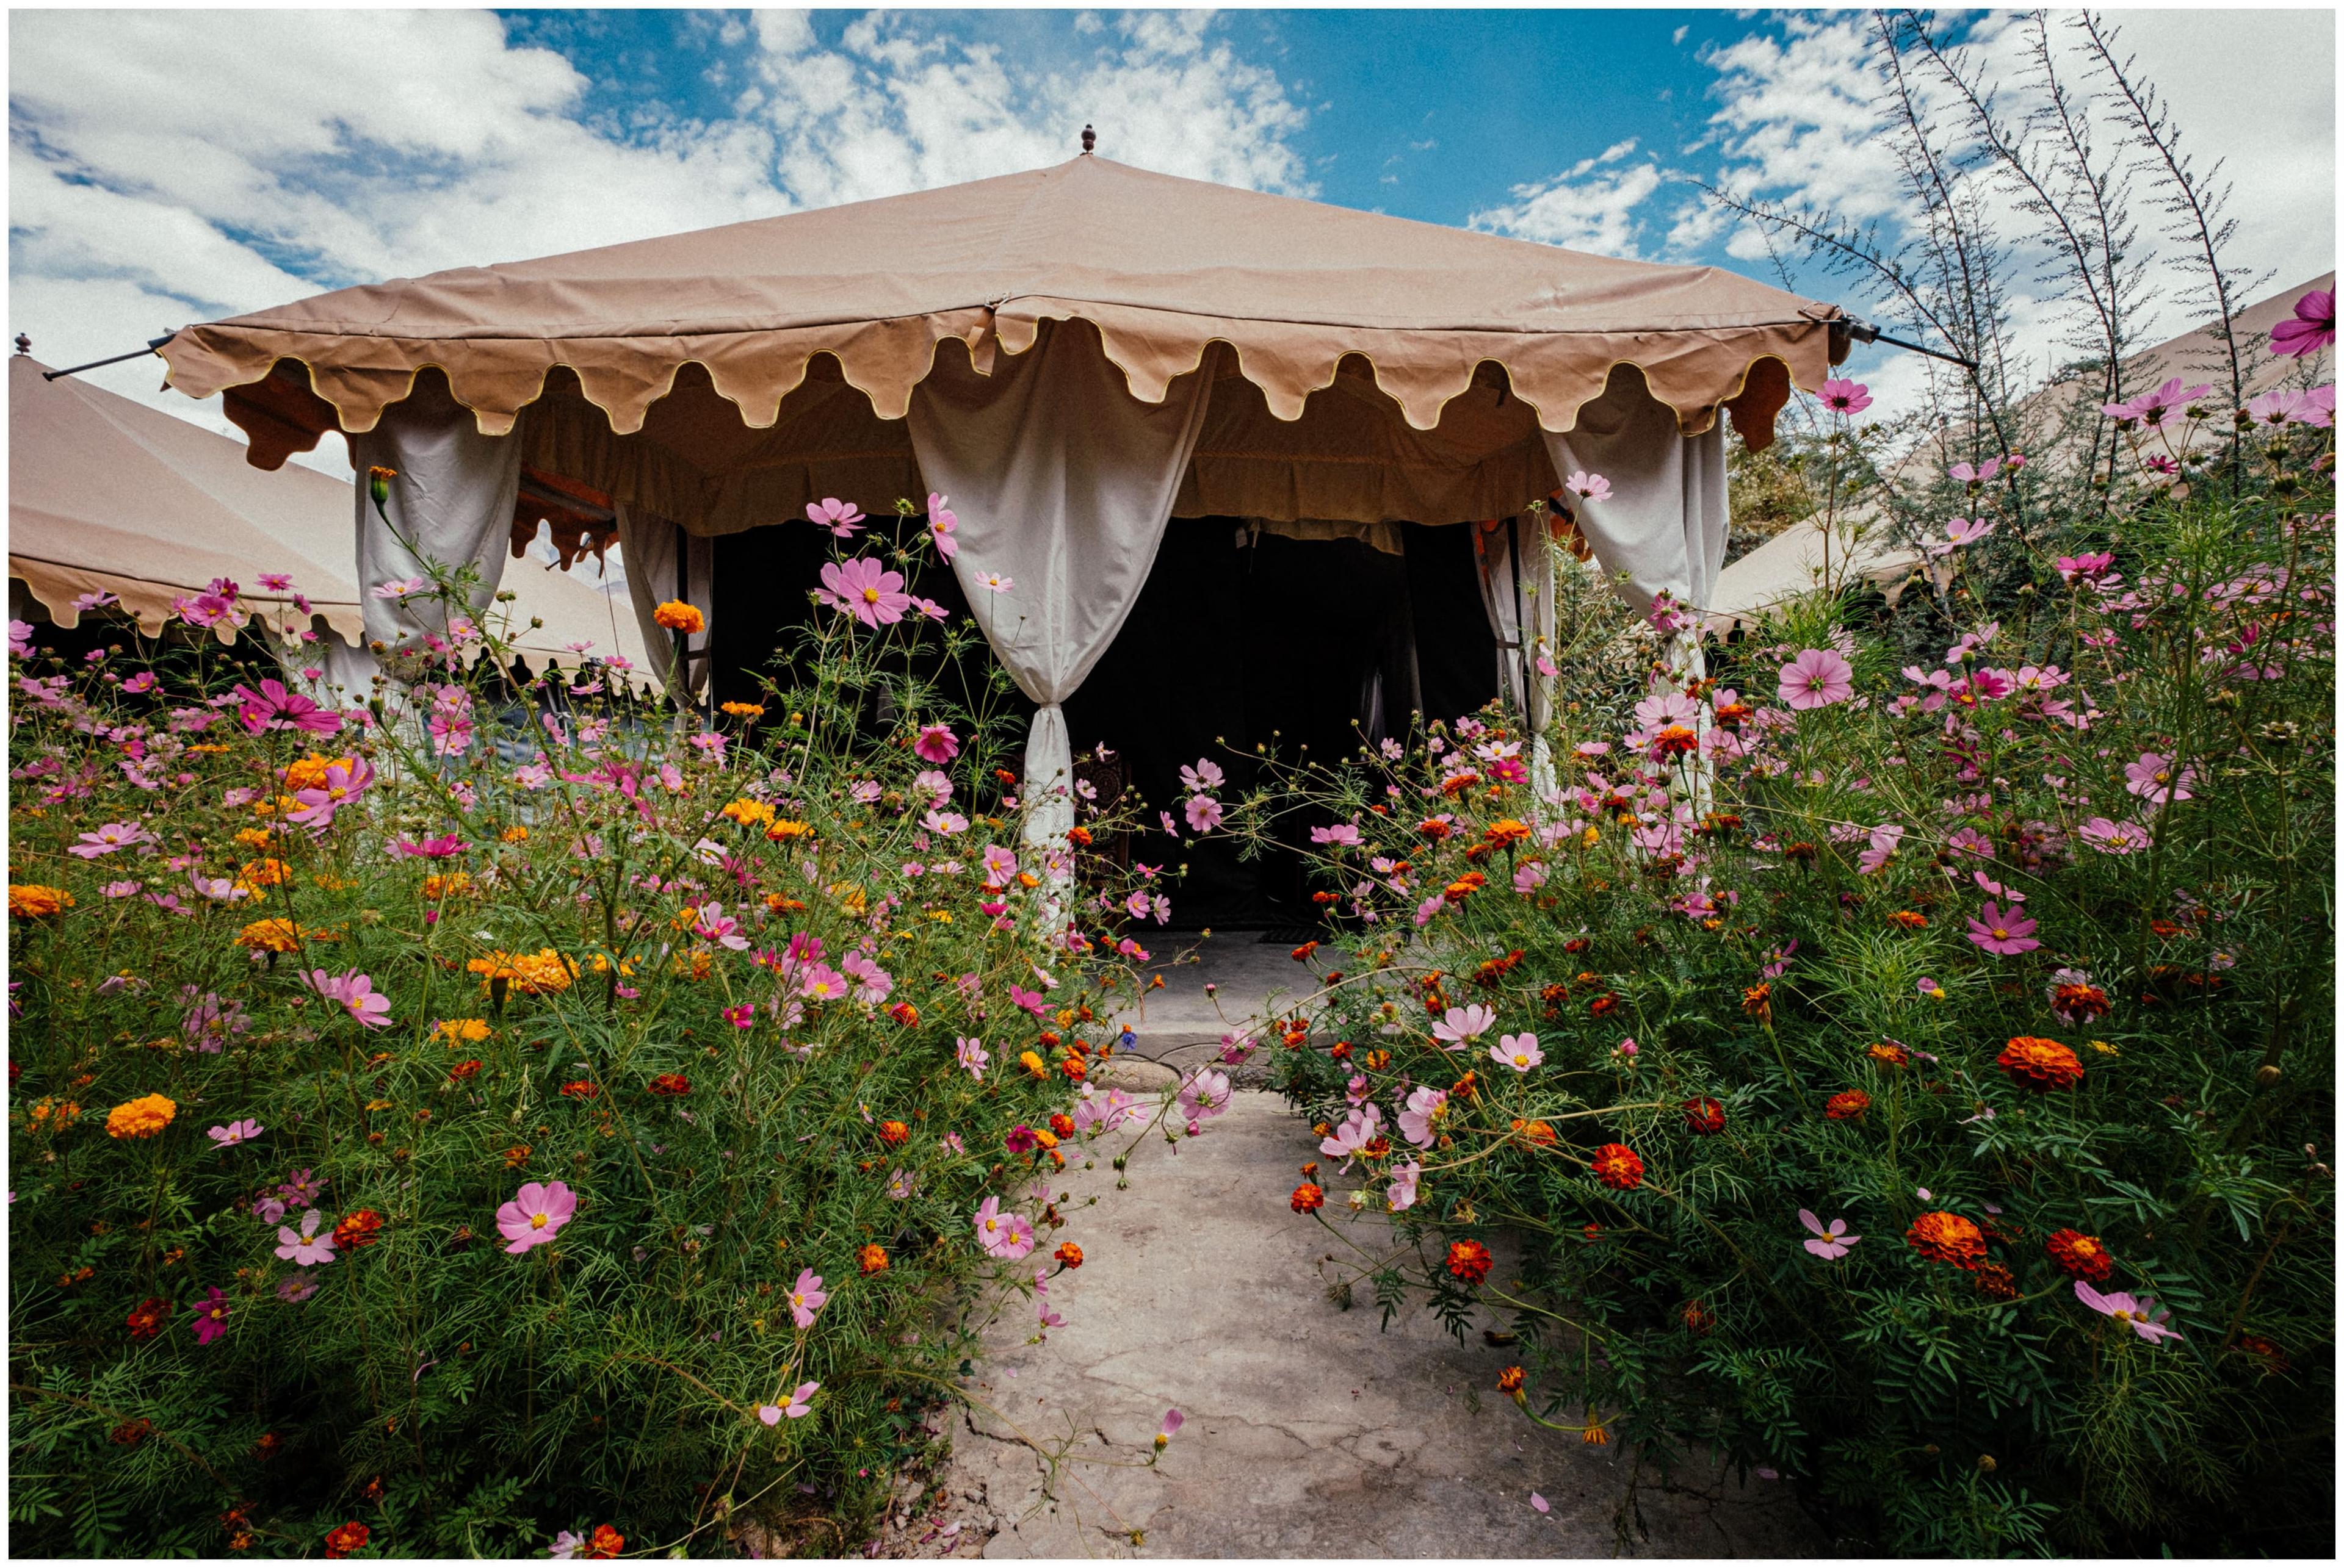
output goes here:
<path id="1" fill-rule="evenodd" d="M 281 462 L 321 429 L 366 431 L 436 366 L 483 434 L 567 366 L 614 434 L 642 429 L 687 363 L 766 429 L 832 356 L 900 420 L 945 340 L 984 373 L 1048 319 L 1090 321 L 1130 391 L 1160 403 L 1212 342 L 1235 349 L 1268 413 L 1299 420 L 1364 356 L 1413 429 L 1503 366 L 1549 431 L 1615 366 L 1636 366 L 1688 434 L 1732 405 L 1760 445 L 1791 382 L 1819 387 L 1840 309 L 1716 267 L 1559 251 L 1076 157 L 966 185 L 694 234 L 340 288 L 180 330 L 162 356 L 190 396 L 307 368 L 253 431 Z M 1845 340 L 1838 345 L 1845 349 Z M 309 396 L 316 394 L 316 401 Z"/>

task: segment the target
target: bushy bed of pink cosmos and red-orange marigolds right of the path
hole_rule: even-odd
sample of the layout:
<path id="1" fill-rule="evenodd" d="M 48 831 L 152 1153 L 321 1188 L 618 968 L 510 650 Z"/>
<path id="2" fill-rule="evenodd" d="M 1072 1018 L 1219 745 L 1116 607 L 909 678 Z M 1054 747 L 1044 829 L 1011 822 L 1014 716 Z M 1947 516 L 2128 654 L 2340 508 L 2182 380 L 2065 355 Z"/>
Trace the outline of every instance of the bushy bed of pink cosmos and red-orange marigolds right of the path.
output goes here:
<path id="1" fill-rule="evenodd" d="M 1477 1303 L 1528 1418 L 1880 1549 L 2328 1554 L 2335 555 L 2271 483 L 2314 455 L 2006 516 L 1997 621 L 1955 558 L 1880 635 L 1812 600 L 1627 720 L 1559 661 L 1542 736 L 1235 802 L 1360 837 L 1275 1055 L 1367 1144 L 1320 1221 L 1397 1209 L 1385 1313 Z M 1847 687 L 1793 708 L 1805 652 Z"/>

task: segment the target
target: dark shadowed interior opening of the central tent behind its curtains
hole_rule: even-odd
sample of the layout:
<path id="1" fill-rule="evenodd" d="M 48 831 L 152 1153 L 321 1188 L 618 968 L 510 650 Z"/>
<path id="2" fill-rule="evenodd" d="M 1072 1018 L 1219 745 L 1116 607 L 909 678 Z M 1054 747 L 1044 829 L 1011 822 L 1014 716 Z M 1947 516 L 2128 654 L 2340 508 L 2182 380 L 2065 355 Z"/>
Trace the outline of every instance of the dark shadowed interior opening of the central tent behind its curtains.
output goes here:
<path id="1" fill-rule="evenodd" d="M 713 696 L 750 698 L 755 670 L 811 614 L 804 588 L 832 539 L 813 525 L 781 525 L 724 534 L 715 546 Z M 912 588 L 966 609 L 952 572 L 931 567 Z M 1287 530 L 1172 518 L 1130 619 L 1064 708 L 1076 773 L 1137 788 L 1149 820 L 1170 811 L 1186 837 L 1179 771 L 1200 757 L 1245 788 L 1256 776 L 1256 745 L 1289 762 L 1331 762 L 1362 743 L 1406 743 L 1413 724 L 1456 720 L 1495 694 L 1498 642 L 1472 525 Z M 1099 745 L 1116 755 L 1106 769 L 1088 762 Z M 1303 837 L 1301 825 L 1294 837 Z M 1240 860 L 1226 837 L 1181 848 L 1149 832 L 1130 853 L 1188 865 L 1172 888 L 1179 928 L 1310 923 L 1292 846 Z"/>

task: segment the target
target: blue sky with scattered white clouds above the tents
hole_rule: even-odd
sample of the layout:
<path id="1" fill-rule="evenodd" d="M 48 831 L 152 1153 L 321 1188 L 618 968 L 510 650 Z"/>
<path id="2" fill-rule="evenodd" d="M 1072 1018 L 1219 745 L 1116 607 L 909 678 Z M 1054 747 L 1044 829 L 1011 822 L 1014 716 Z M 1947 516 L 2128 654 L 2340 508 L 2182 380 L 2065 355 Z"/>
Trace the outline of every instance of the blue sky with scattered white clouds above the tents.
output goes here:
<path id="1" fill-rule="evenodd" d="M 1988 56 L 2013 47 L 2009 14 L 1957 26 Z M 2271 288 L 2330 270 L 2335 14 L 2121 26 L 2199 157 L 2229 157 L 2241 260 Z M 1863 28 L 1676 9 L 12 12 L 9 333 L 73 363 L 319 288 L 1048 164 L 1085 120 L 1102 155 L 1170 173 L 1772 279 L 1688 178 L 1894 232 Z M 2049 340 L 2051 302 L 2018 314 Z M 1915 377 L 1878 354 L 1856 370 L 1887 391 Z M 152 361 L 98 380 L 220 427 L 159 394 Z"/>

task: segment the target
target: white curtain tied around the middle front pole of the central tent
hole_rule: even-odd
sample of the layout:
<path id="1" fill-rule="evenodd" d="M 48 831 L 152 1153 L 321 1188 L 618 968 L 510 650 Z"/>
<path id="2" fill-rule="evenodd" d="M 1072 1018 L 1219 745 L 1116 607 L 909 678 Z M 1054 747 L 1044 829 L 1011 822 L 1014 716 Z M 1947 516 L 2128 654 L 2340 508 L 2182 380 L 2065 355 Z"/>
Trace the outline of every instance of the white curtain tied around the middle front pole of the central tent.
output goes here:
<path id="1" fill-rule="evenodd" d="M 1207 356 L 1210 359 L 1210 356 Z M 1142 403 L 1088 330 L 1050 323 L 989 377 L 938 363 L 912 396 L 912 450 L 959 516 L 961 588 L 1017 687 L 1027 841 L 1064 846 L 1074 750 L 1059 708 L 1116 640 L 1156 565 L 1205 427 L 1210 363 Z M 1008 579 L 989 588 L 987 577 Z"/>

